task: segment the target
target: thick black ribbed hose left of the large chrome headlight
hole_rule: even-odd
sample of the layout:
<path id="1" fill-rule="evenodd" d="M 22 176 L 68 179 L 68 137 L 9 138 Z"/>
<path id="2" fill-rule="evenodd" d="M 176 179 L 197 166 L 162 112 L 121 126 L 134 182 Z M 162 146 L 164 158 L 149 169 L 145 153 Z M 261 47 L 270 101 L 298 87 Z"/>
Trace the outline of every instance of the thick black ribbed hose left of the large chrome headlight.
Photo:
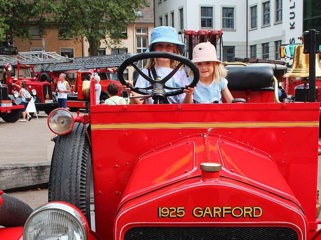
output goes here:
<path id="1" fill-rule="evenodd" d="M 0 206 L 0 226 L 22 227 L 33 211 L 32 208 L 8 194 L 1 194 L 0 197 L 3 200 Z"/>

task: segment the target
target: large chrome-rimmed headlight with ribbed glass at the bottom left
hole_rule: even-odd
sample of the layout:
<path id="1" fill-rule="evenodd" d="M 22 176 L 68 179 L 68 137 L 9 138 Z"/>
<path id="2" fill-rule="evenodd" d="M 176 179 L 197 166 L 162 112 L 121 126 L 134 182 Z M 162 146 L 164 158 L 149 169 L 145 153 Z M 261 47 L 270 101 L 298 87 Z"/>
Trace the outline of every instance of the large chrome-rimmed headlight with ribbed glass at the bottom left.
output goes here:
<path id="1" fill-rule="evenodd" d="M 48 203 L 33 211 L 23 227 L 23 240 L 86 240 L 88 224 L 76 208 L 66 203 Z"/>

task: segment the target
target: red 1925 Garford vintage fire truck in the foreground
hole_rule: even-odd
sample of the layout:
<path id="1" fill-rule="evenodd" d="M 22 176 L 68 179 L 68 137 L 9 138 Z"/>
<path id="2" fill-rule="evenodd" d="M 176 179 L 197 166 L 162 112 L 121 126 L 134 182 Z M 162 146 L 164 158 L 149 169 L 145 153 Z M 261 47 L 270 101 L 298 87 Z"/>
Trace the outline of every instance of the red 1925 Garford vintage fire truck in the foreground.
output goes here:
<path id="1" fill-rule="evenodd" d="M 191 87 L 199 80 L 189 59 L 149 52 L 123 62 L 117 71 L 120 82 L 126 85 L 122 74 L 127 66 L 148 58 L 188 66 L 194 73 Z M 273 79 L 264 66 L 248 68 L 238 68 L 229 81 L 244 83 L 242 89 L 255 80 Z M 254 69 L 256 75 L 247 79 Z M 160 86 L 166 87 L 166 77 L 144 78 L 153 86 L 154 103 L 183 92 L 183 87 L 165 92 Z M 310 84 L 315 84 L 313 78 Z M 59 134 L 50 167 L 50 203 L 32 213 L 21 206 L 24 211 L 17 214 L 8 204 L 23 204 L 2 194 L 7 225 L 24 227 L 0 228 L 0 236 L 321 239 L 316 208 L 319 103 L 235 99 L 222 104 L 96 105 L 92 81 L 83 83 L 82 93 L 90 98 L 89 114 L 74 117 L 56 109 L 48 117 L 49 128 Z M 300 140 L 289 141 L 298 136 Z"/>

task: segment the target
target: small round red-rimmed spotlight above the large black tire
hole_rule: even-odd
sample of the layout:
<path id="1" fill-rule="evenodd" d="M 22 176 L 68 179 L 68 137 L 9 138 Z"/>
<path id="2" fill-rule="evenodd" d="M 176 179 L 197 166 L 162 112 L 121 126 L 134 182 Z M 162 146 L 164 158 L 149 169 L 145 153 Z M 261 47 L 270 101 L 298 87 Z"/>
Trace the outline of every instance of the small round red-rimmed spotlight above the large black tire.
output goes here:
<path id="1" fill-rule="evenodd" d="M 53 133 L 67 134 L 74 127 L 74 116 L 65 108 L 57 108 L 48 116 L 48 127 Z"/>

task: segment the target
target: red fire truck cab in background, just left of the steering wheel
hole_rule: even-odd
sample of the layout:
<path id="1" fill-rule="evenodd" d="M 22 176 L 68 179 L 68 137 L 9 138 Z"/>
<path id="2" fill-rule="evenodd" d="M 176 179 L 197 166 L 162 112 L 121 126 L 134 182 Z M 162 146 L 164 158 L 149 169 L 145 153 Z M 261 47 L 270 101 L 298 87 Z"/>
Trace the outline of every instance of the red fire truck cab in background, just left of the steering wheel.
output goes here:
<path id="1" fill-rule="evenodd" d="M 75 85 L 72 88 L 72 93 L 68 94 L 67 107 L 71 111 L 78 111 L 80 108 L 87 108 L 88 101 L 83 99 L 82 96 L 82 83 L 85 80 L 89 80 L 91 75 L 98 74 L 100 76 L 101 93 L 100 100 L 106 100 L 108 98 L 107 86 L 110 83 L 117 84 L 118 96 L 121 96 L 121 85 L 118 81 L 116 70 L 114 69 L 80 69 L 77 72 Z"/>

